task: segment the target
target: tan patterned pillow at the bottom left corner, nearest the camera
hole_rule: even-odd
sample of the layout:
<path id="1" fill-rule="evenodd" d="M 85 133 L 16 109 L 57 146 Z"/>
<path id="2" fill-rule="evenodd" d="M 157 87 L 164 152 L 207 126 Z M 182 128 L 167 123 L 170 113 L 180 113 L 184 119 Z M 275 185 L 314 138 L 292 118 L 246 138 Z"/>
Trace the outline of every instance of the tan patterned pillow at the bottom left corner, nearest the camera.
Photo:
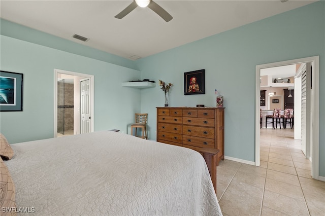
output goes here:
<path id="1" fill-rule="evenodd" d="M 0 158 L 0 214 L 16 215 L 15 185 L 5 162 Z"/>

